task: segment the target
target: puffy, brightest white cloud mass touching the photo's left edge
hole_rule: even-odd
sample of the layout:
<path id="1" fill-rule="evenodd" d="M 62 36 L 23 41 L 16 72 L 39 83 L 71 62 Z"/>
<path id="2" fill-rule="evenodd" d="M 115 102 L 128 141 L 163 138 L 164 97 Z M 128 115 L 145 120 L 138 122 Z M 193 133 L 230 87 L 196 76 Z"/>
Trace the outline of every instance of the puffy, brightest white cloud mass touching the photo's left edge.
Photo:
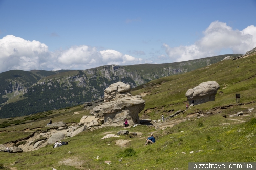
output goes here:
<path id="1" fill-rule="evenodd" d="M 48 47 L 39 41 L 27 41 L 20 37 L 7 35 L 0 39 L 0 72 L 39 67 L 48 55 Z"/>

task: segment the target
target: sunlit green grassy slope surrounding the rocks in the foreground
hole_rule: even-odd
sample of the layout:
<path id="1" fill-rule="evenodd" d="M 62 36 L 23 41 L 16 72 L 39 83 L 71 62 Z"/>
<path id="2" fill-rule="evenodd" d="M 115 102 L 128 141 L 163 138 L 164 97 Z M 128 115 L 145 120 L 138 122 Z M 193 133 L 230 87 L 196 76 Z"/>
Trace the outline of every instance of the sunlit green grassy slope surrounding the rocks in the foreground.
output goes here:
<path id="1" fill-rule="evenodd" d="M 0 163 L 9 169 L 122 170 L 188 169 L 189 162 L 255 162 L 256 111 L 248 111 L 256 107 L 255 74 L 256 55 L 234 61 L 224 60 L 184 74 L 153 80 L 132 91 L 133 95 L 142 94 L 146 101 L 139 116 L 141 119 L 158 120 L 162 114 L 168 118 L 178 110 L 184 111 L 167 119 L 166 125 L 177 122 L 173 127 L 155 129 L 154 126 L 140 125 L 127 129 L 106 127 L 87 130 L 65 139 L 69 144 L 63 147 L 47 145 L 37 151 L 17 154 L 0 152 Z M 216 81 L 220 85 L 215 101 L 191 106 L 185 111 L 186 91 L 205 81 Z M 236 103 L 236 93 L 241 94 L 240 103 Z M 63 120 L 69 125 L 79 122 L 83 115 L 89 114 L 81 109 L 82 106 L 74 106 L 35 114 L 30 118 L 0 119 L 0 125 L 10 123 L 9 127 L 0 129 L 0 143 L 17 141 L 28 135 L 25 134 L 28 129 L 39 134 L 40 128 L 44 130 L 50 118 L 53 122 Z M 76 111 L 81 113 L 73 115 Z M 244 114 L 229 117 L 240 111 Z M 15 125 L 15 121 L 20 124 Z M 101 139 L 106 133 L 117 134 L 119 130 L 136 132 L 138 136 Z M 156 143 L 144 146 L 152 132 Z M 120 139 L 130 141 L 120 147 L 116 144 Z M 105 161 L 111 161 L 111 164 Z"/>

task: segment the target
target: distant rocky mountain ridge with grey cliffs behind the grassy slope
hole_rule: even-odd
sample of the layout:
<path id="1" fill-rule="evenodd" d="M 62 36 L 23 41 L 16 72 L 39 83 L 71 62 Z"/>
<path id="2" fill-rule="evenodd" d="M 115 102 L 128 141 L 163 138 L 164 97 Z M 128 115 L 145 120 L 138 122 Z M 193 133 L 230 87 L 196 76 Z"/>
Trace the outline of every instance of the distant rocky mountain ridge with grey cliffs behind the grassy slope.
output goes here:
<path id="1" fill-rule="evenodd" d="M 106 65 L 87 70 L 3 72 L 0 74 L 0 117 L 29 115 L 97 100 L 112 83 L 122 81 L 135 88 L 160 77 L 217 63 L 226 56 L 241 54 L 166 64 Z"/>

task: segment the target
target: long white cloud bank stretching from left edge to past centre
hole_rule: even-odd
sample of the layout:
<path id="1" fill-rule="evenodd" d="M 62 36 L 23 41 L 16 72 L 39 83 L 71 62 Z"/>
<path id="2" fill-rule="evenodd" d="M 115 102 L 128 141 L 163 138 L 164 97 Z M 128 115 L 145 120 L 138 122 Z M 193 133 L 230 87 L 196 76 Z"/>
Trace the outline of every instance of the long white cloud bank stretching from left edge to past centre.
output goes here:
<path id="1" fill-rule="evenodd" d="M 123 55 L 116 50 L 98 51 L 96 47 L 86 45 L 50 52 L 46 44 L 13 35 L 0 39 L 0 51 L 0 72 L 13 69 L 89 69 L 101 65 L 132 65 L 147 62 L 131 55 Z"/>

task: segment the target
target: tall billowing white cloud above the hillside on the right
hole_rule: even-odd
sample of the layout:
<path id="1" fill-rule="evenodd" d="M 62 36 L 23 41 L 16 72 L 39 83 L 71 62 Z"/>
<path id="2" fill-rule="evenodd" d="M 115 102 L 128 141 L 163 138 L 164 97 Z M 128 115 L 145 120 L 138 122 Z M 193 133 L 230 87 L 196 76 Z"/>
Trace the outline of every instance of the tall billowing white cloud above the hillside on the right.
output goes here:
<path id="1" fill-rule="evenodd" d="M 170 47 L 163 44 L 165 52 L 174 61 L 187 61 L 219 55 L 223 49 L 233 53 L 246 53 L 256 47 L 256 27 L 251 25 L 242 31 L 233 30 L 226 23 L 214 21 L 203 31 L 204 36 L 193 45 Z"/>

